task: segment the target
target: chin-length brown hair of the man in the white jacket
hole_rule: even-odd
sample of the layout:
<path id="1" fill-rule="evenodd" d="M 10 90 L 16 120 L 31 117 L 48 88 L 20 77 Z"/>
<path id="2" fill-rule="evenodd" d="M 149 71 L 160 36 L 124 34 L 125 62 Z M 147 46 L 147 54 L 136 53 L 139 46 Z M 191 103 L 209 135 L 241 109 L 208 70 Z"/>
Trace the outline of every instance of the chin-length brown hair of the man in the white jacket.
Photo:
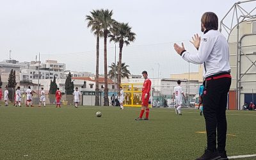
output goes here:
<path id="1" fill-rule="evenodd" d="M 201 22 L 207 30 L 218 30 L 218 17 L 213 12 L 205 12 L 202 15 Z"/>

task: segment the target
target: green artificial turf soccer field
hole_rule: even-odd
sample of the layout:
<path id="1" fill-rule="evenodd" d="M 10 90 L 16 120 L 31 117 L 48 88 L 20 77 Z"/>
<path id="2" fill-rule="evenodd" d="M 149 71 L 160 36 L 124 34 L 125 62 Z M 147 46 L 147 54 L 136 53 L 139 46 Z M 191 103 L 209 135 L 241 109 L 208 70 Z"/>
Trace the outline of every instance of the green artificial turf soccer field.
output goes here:
<path id="1" fill-rule="evenodd" d="M 95 113 L 102 112 L 97 118 Z M 0 107 L 0 159 L 195 159 L 206 147 L 197 109 Z M 228 156 L 256 154 L 256 111 L 227 111 Z M 250 158 L 250 159 L 256 159 Z"/>

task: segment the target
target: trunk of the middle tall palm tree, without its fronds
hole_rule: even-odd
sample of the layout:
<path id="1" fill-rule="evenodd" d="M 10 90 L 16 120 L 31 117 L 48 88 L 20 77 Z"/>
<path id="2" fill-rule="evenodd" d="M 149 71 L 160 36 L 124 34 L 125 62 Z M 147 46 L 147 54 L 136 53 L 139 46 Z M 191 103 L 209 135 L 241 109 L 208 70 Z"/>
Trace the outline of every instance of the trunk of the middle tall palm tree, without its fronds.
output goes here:
<path id="1" fill-rule="evenodd" d="M 107 38 L 108 38 L 108 32 L 104 31 L 104 106 L 109 106 L 109 99 L 108 99 Z"/>

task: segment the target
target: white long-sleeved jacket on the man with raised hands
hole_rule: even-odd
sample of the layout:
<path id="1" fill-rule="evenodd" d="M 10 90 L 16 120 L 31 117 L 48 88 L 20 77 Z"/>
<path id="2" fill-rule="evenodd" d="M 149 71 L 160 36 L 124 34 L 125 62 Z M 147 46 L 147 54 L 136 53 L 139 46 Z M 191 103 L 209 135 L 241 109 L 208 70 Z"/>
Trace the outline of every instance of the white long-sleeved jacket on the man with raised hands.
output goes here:
<path id="1" fill-rule="evenodd" d="M 204 78 L 230 72 L 228 43 L 220 31 L 210 30 L 201 38 L 200 47 L 196 54 L 183 52 L 182 58 L 195 64 L 204 63 Z"/>

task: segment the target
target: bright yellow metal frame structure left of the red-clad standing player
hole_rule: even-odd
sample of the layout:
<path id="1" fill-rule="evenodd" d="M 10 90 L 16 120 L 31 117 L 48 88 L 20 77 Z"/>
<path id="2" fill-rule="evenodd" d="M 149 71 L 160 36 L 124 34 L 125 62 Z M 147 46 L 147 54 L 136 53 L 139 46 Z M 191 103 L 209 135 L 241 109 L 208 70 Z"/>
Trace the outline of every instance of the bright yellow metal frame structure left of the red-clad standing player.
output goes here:
<path id="1" fill-rule="evenodd" d="M 141 90 L 143 83 L 123 83 L 124 106 L 141 107 Z M 151 105 L 149 105 L 151 107 Z"/>

